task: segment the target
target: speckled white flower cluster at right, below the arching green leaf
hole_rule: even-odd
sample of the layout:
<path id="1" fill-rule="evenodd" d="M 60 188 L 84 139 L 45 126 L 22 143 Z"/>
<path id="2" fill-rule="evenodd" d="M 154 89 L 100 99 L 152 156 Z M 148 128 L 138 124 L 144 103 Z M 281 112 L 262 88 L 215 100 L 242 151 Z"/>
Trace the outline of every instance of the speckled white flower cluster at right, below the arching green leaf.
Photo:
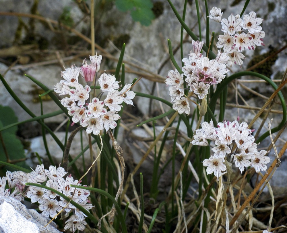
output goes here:
<path id="1" fill-rule="evenodd" d="M 203 160 L 207 174 L 214 172 L 217 178 L 220 177 L 226 171 L 226 161 L 234 161 L 241 172 L 250 166 L 256 172 L 266 171 L 266 163 L 270 162 L 270 158 L 265 156 L 267 151 L 257 151 L 257 144 L 251 135 L 254 130 L 249 129 L 246 122 L 239 125 L 238 120 L 218 123 L 217 128 L 213 126 L 213 121 L 203 122 L 201 129 L 196 131 L 193 145 L 208 146 L 207 140 L 214 141 L 213 155 Z"/>

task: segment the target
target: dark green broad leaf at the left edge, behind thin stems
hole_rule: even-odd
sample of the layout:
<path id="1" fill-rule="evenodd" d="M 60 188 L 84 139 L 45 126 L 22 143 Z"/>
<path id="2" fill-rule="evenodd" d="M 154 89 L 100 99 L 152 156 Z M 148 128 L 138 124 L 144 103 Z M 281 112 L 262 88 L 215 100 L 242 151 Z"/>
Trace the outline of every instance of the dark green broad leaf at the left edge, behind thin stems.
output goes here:
<path id="1" fill-rule="evenodd" d="M 0 129 L 18 122 L 18 118 L 15 115 L 15 112 L 9 106 L 0 105 Z M 18 130 L 17 126 L 10 127 L 1 133 L 2 140 L 0 144 L 0 160 L 7 161 L 5 150 L 9 156 L 9 160 L 18 160 L 25 158 L 24 148 L 21 141 L 16 137 L 16 132 Z M 16 163 L 19 166 L 23 166 L 25 162 Z"/>

